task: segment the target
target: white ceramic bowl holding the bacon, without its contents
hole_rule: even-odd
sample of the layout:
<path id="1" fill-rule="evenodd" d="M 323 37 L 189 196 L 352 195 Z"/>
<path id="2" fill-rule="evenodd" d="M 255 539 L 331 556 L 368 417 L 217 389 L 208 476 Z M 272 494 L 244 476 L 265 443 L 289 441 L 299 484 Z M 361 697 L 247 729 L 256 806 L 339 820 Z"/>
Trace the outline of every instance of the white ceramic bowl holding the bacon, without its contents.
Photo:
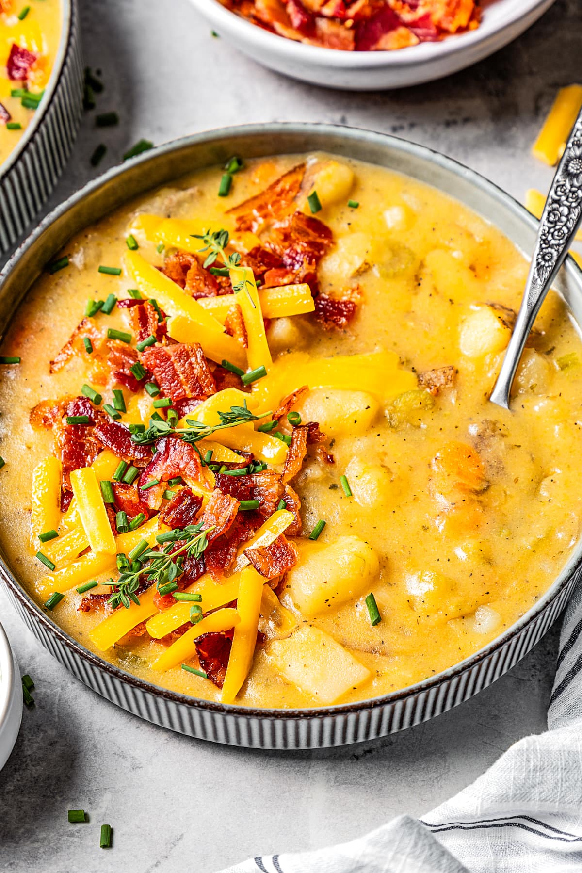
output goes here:
<path id="1" fill-rule="evenodd" d="M 278 37 L 225 9 L 191 0 L 210 26 L 241 52 L 293 79 L 349 91 L 381 91 L 442 79 L 503 48 L 555 0 L 488 0 L 476 31 L 396 52 L 339 52 Z"/>

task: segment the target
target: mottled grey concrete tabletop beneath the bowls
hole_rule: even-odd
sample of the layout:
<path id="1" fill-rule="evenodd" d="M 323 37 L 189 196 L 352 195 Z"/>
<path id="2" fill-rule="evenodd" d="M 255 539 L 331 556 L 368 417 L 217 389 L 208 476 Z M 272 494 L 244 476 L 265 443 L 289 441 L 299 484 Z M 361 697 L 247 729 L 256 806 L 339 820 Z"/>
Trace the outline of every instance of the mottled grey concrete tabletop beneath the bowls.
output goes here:
<path id="1" fill-rule="evenodd" d="M 451 79 L 397 93 L 339 93 L 283 79 L 212 38 L 188 0 L 81 0 L 86 61 L 103 71 L 53 203 L 141 136 L 156 143 L 248 121 L 318 120 L 427 144 L 518 198 L 547 188 L 529 155 L 558 88 L 579 79 L 579 0 L 558 0 L 515 44 Z M 0 616 L 37 683 L 0 773 L 0 869 L 210 873 L 257 853 L 350 839 L 392 815 L 420 815 L 483 773 L 515 740 L 545 727 L 557 630 L 487 691 L 387 739 L 312 753 L 259 753 L 187 739 L 106 703 L 24 629 L 0 590 Z M 66 810 L 91 821 L 69 825 Z M 113 849 L 99 849 L 99 825 Z"/>

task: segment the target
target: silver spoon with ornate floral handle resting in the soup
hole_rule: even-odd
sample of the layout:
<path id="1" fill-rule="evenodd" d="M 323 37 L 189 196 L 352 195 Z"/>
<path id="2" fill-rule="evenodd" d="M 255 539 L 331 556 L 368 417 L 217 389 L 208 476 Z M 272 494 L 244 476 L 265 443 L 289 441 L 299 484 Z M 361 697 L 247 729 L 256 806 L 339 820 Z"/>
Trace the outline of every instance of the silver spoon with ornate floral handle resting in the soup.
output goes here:
<path id="1" fill-rule="evenodd" d="M 551 182 L 517 320 L 490 401 L 510 408 L 510 390 L 539 307 L 582 222 L 582 110 Z"/>

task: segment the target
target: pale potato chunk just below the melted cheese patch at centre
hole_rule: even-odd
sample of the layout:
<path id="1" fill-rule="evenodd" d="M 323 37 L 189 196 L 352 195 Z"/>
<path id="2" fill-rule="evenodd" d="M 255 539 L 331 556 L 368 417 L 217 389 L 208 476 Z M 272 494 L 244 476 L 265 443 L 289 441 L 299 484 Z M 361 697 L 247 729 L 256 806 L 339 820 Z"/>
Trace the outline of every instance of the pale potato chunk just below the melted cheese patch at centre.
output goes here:
<path id="1" fill-rule="evenodd" d="M 319 422 L 326 434 L 358 436 L 371 426 L 380 405 L 365 391 L 316 388 L 305 395 L 297 409 L 304 422 Z"/>

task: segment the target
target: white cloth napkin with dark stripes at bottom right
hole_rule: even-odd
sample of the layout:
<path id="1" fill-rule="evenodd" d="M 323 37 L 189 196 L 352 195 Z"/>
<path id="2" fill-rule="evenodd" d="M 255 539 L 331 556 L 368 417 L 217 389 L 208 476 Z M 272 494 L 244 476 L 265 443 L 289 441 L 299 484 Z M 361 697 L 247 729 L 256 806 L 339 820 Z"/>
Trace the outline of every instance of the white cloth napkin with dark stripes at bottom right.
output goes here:
<path id="1" fill-rule="evenodd" d="M 549 730 L 419 821 L 352 842 L 257 856 L 223 873 L 579 873 L 582 870 L 582 586 L 565 611 Z"/>

